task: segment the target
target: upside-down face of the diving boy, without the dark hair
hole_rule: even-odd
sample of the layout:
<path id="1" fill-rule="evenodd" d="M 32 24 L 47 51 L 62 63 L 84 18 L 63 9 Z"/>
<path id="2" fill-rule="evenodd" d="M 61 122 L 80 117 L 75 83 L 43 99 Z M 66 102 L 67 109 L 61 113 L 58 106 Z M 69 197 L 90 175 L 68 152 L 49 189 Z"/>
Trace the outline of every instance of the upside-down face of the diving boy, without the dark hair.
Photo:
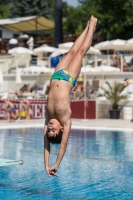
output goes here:
<path id="1" fill-rule="evenodd" d="M 56 135 L 59 133 L 61 128 L 62 126 L 58 120 L 51 119 L 47 126 L 47 134 L 50 137 L 56 137 Z"/>

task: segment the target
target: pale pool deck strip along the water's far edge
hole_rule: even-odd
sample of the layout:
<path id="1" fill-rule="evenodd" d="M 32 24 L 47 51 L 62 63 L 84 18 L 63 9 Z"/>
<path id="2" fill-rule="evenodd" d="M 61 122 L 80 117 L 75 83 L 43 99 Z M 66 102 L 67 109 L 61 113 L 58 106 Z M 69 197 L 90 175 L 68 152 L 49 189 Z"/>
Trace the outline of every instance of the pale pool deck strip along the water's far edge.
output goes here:
<path id="1" fill-rule="evenodd" d="M 44 119 L 7 121 L 0 120 L 0 129 L 14 128 L 43 128 Z M 114 119 L 72 119 L 72 129 L 96 129 L 96 130 L 129 130 L 133 131 L 131 120 Z"/>

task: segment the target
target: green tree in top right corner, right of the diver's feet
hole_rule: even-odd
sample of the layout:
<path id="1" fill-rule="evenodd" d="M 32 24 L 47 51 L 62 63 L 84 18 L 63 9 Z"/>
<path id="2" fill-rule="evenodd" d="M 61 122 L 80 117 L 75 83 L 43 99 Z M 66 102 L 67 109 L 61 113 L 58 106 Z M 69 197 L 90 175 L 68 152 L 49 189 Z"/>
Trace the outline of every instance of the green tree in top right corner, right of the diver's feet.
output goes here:
<path id="1" fill-rule="evenodd" d="M 105 30 L 108 39 L 128 39 L 133 34 L 132 0 L 79 0 L 86 16 L 98 18 L 97 31 Z"/>

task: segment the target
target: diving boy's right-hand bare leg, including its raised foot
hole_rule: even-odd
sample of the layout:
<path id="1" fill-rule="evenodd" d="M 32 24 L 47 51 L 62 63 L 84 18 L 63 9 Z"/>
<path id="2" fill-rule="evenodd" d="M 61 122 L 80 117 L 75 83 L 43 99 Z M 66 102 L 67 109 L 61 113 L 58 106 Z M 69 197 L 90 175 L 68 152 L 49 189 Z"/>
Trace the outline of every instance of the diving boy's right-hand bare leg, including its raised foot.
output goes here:
<path id="1" fill-rule="evenodd" d="M 73 59 L 71 60 L 69 66 L 68 66 L 68 72 L 73 78 L 77 78 L 79 76 L 81 66 L 82 66 L 82 59 L 84 54 L 88 51 L 88 49 L 91 46 L 93 33 L 95 30 L 97 24 L 97 18 L 91 17 L 90 24 L 89 24 L 89 30 L 87 32 L 86 38 L 82 44 L 82 46 L 79 48 L 77 53 L 74 55 Z"/>

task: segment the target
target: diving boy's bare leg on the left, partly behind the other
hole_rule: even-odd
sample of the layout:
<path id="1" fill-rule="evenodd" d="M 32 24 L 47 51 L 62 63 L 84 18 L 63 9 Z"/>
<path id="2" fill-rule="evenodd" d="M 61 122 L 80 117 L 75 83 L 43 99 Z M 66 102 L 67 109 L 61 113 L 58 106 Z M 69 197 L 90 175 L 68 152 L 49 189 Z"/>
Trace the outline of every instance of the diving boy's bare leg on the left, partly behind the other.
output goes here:
<path id="1" fill-rule="evenodd" d="M 72 58 L 74 57 L 75 53 L 78 51 L 78 49 L 81 47 L 81 45 L 84 42 L 84 39 L 86 38 L 86 34 L 89 30 L 89 22 L 87 23 L 83 33 L 77 38 L 77 40 L 74 42 L 73 46 L 69 50 L 69 52 L 61 59 L 61 61 L 58 63 L 55 71 L 58 71 L 62 68 L 67 68 L 70 64 Z"/>

